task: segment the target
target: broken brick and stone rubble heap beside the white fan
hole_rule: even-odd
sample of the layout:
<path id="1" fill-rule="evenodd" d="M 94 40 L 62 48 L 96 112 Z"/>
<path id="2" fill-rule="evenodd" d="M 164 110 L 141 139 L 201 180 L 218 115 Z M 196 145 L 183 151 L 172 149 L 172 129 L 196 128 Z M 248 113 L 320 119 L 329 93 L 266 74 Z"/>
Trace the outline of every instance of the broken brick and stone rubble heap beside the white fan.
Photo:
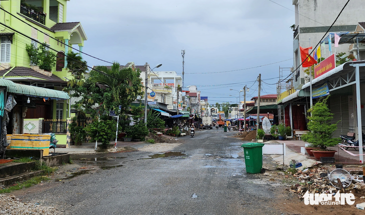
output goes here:
<path id="1" fill-rule="evenodd" d="M 326 167 L 298 170 L 292 176 L 299 181 L 299 184 L 292 185 L 288 191 L 297 194 L 300 198 L 303 197 L 306 191 L 312 194 L 336 193 L 338 189 L 331 185 L 328 180 L 328 174 L 329 171 Z M 365 184 L 352 180 L 352 183 L 347 188 L 344 188 L 345 191 L 353 189 L 363 190 L 365 189 Z"/>

